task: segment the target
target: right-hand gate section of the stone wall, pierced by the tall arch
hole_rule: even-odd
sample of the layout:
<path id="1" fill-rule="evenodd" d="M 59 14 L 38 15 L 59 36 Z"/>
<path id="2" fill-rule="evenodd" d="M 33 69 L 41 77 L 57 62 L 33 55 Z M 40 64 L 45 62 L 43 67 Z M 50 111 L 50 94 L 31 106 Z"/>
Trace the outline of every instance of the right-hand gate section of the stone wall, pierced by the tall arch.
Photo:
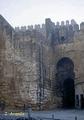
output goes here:
<path id="1" fill-rule="evenodd" d="M 60 98 L 63 97 L 63 94 L 66 94 L 66 92 L 63 93 L 63 89 L 65 89 L 62 88 L 64 84 L 63 81 L 67 79 L 70 80 L 74 79 L 75 107 L 83 108 L 84 107 L 84 103 L 83 103 L 84 101 L 84 87 L 83 87 L 84 23 L 82 22 L 80 24 L 80 29 L 77 23 L 73 20 L 71 21 L 71 24 L 68 24 L 68 26 L 65 26 L 64 22 L 62 22 L 62 26 L 58 28 L 58 31 L 56 27 L 54 28 L 52 26 L 53 23 L 50 22 L 50 20 L 48 19 L 46 28 L 47 28 L 47 39 L 48 42 L 50 43 L 50 48 L 52 49 L 51 50 L 52 53 L 50 54 L 52 59 L 51 61 L 49 61 L 50 69 L 53 68 L 52 70 L 53 78 L 51 78 L 52 91 L 53 94 L 56 94 L 56 98 L 53 97 L 54 100 L 52 101 L 55 101 L 55 103 L 58 102 L 59 105 L 63 105 L 63 99 L 60 100 Z M 67 64 L 65 61 L 63 61 L 64 59 L 65 61 L 71 60 L 73 65 L 70 65 L 69 63 Z M 59 68 L 58 68 L 58 63 L 60 64 Z M 72 68 L 70 70 L 70 66 L 73 66 L 72 67 L 73 70 Z M 62 89 L 60 88 L 60 85 Z M 61 91 L 61 95 L 59 95 L 60 94 L 59 91 Z M 68 98 L 69 97 L 72 98 L 72 96 L 68 96 Z"/>

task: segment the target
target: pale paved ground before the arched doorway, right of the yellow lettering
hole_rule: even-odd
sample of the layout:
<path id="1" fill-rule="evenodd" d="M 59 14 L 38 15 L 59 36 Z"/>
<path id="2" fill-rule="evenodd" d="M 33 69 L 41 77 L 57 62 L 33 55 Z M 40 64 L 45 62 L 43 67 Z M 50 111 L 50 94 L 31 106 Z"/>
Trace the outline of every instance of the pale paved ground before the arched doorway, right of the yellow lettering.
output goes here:
<path id="1" fill-rule="evenodd" d="M 84 120 L 84 110 L 54 110 L 32 112 L 34 118 L 54 118 L 61 120 Z M 77 117 L 77 119 L 75 118 Z"/>

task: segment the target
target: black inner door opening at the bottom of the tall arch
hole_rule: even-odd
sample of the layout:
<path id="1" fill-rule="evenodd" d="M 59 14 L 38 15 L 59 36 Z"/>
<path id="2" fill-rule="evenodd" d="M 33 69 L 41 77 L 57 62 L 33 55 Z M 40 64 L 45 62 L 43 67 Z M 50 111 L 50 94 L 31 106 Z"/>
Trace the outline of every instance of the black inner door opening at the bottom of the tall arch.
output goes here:
<path id="1" fill-rule="evenodd" d="M 74 80 L 68 78 L 63 83 L 63 107 L 73 108 L 75 102 Z"/>

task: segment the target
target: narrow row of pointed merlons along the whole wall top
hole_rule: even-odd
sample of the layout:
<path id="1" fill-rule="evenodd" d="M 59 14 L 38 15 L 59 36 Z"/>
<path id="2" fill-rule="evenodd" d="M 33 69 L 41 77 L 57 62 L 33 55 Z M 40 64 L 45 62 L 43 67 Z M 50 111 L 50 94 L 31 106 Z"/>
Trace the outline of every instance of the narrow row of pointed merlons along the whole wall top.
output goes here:
<path id="1" fill-rule="evenodd" d="M 74 31 L 76 31 L 76 30 L 78 31 L 78 30 L 83 30 L 84 29 L 84 23 L 82 22 L 80 24 L 80 27 L 79 27 L 79 25 L 76 23 L 76 21 L 74 19 L 72 19 L 71 21 L 69 21 L 69 20 L 61 21 L 61 22 L 57 21 L 56 24 L 55 24 L 54 22 L 51 21 L 50 18 L 47 18 L 47 19 L 45 19 L 45 24 L 42 24 L 42 25 L 35 24 L 35 25 L 15 27 L 15 31 L 16 32 L 19 32 L 19 31 L 25 32 L 26 30 L 30 30 L 30 31 L 38 30 L 38 31 L 41 31 L 42 29 L 46 29 L 45 26 L 46 26 L 47 23 L 48 23 L 49 26 L 52 26 L 53 28 L 63 27 L 63 26 L 65 26 L 65 27 L 72 26 Z"/>

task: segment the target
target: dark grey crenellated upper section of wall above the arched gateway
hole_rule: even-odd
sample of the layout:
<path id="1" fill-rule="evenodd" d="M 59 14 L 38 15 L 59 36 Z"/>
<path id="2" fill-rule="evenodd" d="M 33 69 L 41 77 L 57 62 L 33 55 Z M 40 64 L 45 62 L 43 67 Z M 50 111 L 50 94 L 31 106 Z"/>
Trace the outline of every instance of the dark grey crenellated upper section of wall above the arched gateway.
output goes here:
<path id="1" fill-rule="evenodd" d="M 82 22 L 79 27 L 74 19 L 56 22 L 55 24 L 50 18 L 47 18 L 45 26 L 46 38 L 52 40 L 53 44 L 72 42 L 75 32 L 78 34 L 78 32 L 84 31 L 84 23 Z"/>

